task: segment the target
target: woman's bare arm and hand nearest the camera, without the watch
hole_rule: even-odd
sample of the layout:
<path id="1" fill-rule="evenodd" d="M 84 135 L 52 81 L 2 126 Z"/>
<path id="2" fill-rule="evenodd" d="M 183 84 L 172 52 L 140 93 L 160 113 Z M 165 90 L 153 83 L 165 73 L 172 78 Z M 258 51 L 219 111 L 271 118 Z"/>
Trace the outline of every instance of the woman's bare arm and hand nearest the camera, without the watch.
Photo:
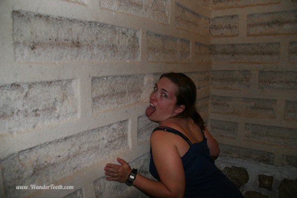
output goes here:
<path id="1" fill-rule="evenodd" d="M 156 133 L 159 132 L 159 133 Z M 168 134 L 168 133 L 167 133 Z M 153 198 L 182 198 L 185 191 L 185 173 L 181 157 L 164 131 L 155 131 L 151 135 L 151 149 L 157 172 L 161 181 L 148 179 L 137 174 L 133 186 Z M 106 164 L 104 168 L 107 180 L 125 182 L 131 167 L 123 159 L 122 165 Z M 116 177 L 115 174 L 117 174 Z"/>

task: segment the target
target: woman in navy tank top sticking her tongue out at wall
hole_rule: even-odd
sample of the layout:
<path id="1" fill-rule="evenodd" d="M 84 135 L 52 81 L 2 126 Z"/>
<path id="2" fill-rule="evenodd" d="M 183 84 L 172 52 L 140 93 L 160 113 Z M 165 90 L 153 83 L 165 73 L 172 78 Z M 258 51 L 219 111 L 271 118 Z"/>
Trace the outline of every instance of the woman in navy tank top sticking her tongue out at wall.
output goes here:
<path id="1" fill-rule="evenodd" d="M 106 164 L 107 180 L 126 182 L 156 198 L 243 198 L 215 166 L 217 141 L 195 108 L 196 86 L 182 73 L 160 77 L 150 94 L 146 115 L 159 123 L 150 136 L 151 180 L 122 165 Z"/>

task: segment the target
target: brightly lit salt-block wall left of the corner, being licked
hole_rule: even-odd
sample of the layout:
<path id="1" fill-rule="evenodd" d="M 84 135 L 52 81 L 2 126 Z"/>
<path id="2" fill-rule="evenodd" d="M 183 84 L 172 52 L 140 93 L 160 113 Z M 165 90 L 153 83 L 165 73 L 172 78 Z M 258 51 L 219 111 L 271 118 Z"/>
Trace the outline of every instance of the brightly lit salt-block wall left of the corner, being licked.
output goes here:
<path id="1" fill-rule="evenodd" d="M 195 81 L 207 120 L 210 2 L 2 0 L 0 18 L 0 197 L 146 197 L 103 167 L 119 156 L 150 177 L 163 72 Z M 16 190 L 31 184 L 74 189 Z"/>

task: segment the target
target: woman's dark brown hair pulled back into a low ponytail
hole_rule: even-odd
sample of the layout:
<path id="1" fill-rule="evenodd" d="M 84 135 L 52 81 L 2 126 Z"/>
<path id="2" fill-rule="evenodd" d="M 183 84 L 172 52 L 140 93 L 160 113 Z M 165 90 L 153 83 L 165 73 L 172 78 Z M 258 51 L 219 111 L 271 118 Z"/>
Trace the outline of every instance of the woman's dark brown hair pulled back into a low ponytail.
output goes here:
<path id="1" fill-rule="evenodd" d="M 205 123 L 196 109 L 196 86 L 191 78 L 183 73 L 166 73 L 162 77 L 171 80 L 177 87 L 176 105 L 185 105 L 183 112 L 176 115 L 180 118 L 192 118 L 195 124 L 201 129 L 205 127 Z"/>

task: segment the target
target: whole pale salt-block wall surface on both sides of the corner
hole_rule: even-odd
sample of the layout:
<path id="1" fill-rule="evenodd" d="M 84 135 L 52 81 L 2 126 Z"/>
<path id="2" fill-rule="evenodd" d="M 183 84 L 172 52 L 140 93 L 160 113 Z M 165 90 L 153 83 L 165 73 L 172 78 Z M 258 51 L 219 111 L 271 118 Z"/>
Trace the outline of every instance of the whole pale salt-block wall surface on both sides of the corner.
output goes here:
<path id="1" fill-rule="evenodd" d="M 247 170 L 247 196 L 281 197 L 297 179 L 296 3 L 1 0 L 0 197 L 146 197 L 103 167 L 121 157 L 149 177 L 145 109 L 171 71 L 197 85 L 218 166 Z M 272 180 L 279 167 L 292 174 Z M 36 188 L 50 185 L 73 188 Z"/>

